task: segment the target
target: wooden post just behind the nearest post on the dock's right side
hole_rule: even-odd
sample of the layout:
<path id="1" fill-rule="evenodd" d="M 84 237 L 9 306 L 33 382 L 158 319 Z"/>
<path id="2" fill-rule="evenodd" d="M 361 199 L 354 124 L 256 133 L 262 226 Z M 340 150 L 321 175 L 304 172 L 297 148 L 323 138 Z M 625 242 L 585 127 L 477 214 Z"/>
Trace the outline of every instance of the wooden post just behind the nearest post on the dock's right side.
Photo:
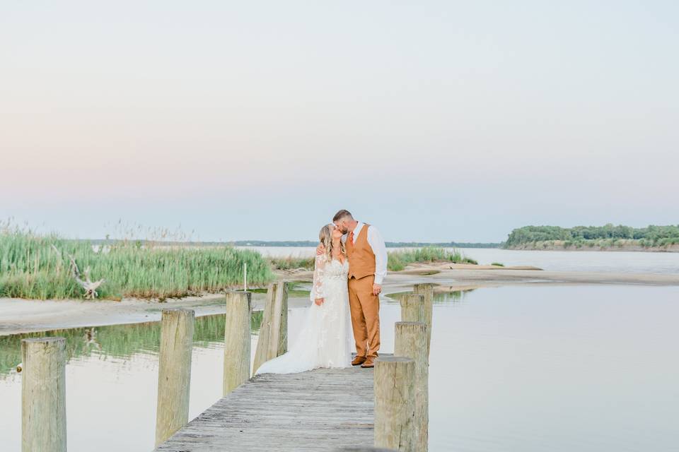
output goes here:
<path id="1" fill-rule="evenodd" d="M 394 355 L 415 362 L 415 448 L 426 452 L 429 444 L 429 358 L 424 322 L 395 323 Z"/>

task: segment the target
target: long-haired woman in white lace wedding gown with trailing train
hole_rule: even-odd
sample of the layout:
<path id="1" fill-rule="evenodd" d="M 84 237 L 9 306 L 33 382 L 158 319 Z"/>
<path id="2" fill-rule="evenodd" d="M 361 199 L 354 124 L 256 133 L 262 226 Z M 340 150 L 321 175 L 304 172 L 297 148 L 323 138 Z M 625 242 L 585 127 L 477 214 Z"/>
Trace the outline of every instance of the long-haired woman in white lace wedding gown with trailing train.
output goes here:
<path id="1" fill-rule="evenodd" d="M 327 252 L 316 256 L 311 307 L 289 352 L 271 359 L 256 374 L 294 374 L 318 367 L 351 367 L 352 333 L 342 231 L 325 225 L 318 234 Z"/>

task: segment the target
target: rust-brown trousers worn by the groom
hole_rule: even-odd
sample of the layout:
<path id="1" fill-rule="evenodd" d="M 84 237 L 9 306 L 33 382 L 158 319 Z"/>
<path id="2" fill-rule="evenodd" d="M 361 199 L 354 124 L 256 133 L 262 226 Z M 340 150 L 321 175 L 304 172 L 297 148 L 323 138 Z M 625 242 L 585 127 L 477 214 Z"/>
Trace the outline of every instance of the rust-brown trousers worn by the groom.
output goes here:
<path id="1" fill-rule="evenodd" d="M 380 298 L 373 295 L 375 275 L 349 279 L 349 311 L 356 340 L 356 356 L 377 357 L 380 350 Z"/>

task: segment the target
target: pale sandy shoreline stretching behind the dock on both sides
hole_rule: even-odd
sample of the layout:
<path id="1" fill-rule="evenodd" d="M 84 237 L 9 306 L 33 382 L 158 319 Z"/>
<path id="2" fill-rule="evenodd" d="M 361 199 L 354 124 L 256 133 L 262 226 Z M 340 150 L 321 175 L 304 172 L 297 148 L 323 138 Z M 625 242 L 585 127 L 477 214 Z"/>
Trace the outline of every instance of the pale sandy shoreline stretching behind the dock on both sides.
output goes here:
<path id="1" fill-rule="evenodd" d="M 489 267 L 489 266 L 488 266 Z M 280 275 L 284 280 L 311 281 L 313 273 L 298 272 Z M 390 272 L 385 280 L 384 293 L 410 290 L 413 284 L 435 283 L 437 291 L 449 292 L 477 287 L 499 285 L 533 284 L 627 284 L 627 285 L 679 285 L 679 275 L 550 272 L 519 270 L 516 268 L 478 268 L 453 264 L 413 266 L 402 272 Z M 262 309 L 265 294 L 253 294 L 255 309 Z M 289 299 L 289 307 L 308 306 L 305 297 Z M 82 300 L 0 299 L 0 335 L 47 331 L 57 328 L 103 326 L 118 323 L 158 321 L 163 309 L 187 307 L 195 309 L 197 316 L 221 314 L 224 309 L 223 295 L 207 295 L 150 302 L 124 299 L 122 302 Z"/>

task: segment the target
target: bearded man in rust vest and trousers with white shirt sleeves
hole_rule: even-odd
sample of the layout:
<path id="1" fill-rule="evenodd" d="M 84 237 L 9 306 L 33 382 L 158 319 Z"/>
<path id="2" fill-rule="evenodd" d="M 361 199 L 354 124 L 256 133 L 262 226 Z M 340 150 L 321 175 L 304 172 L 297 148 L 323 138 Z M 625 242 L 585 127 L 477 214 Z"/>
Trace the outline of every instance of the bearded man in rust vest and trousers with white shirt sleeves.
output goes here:
<path id="1" fill-rule="evenodd" d="M 352 365 L 375 367 L 380 350 L 380 299 L 382 281 L 387 275 L 387 249 L 376 227 L 354 220 L 348 210 L 332 218 L 342 237 L 349 258 L 349 310 L 356 340 Z"/>

